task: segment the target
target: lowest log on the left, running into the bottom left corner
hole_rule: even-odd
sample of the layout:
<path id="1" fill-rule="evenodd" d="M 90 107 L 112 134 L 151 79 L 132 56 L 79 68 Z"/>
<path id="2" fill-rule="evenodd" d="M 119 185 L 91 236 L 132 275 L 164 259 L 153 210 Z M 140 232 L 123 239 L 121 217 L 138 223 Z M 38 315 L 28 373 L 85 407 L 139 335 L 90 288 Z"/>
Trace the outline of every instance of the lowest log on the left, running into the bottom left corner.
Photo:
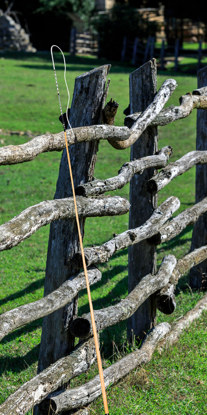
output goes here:
<path id="1" fill-rule="evenodd" d="M 94 339 L 77 345 L 69 356 L 59 359 L 43 372 L 10 395 L 0 405 L 0 415 L 24 415 L 39 404 L 48 394 L 70 379 L 85 373 L 96 359 Z M 80 406 L 80 405 L 79 405 Z M 36 408 L 34 408 L 36 410 Z"/>

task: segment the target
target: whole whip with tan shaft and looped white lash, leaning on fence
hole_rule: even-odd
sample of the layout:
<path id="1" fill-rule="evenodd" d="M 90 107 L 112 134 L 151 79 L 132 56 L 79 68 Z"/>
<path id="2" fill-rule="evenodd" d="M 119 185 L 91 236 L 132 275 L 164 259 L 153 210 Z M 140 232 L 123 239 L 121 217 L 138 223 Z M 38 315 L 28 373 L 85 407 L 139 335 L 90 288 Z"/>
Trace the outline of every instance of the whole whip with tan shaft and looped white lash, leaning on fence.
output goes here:
<path id="1" fill-rule="evenodd" d="M 57 45 L 52 45 L 51 46 L 52 63 L 53 63 L 53 69 L 54 69 L 54 73 L 55 73 L 55 82 L 56 82 L 56 87 L 57 87 L 58 99 L 59 99 L 59 104 L 60 104 L 60 112 L 61 112 L 61 118 L 62 118 L 62 123 L 63 123 L 64 135 L 65 135 L 65 145 L 66 145 L 66 151 L 67 151 L 67 156 L 68 156 L 68 166 L 69 166 L 71 186 L 72 186 L 72 191 L 73 191 L 73 199 L 74 199 L 74 206 L 75 206 L 75 212 L 76 212 L 76 221 L 77 221 L 77 226 L 78 226 L 78 234 L 79 234 L 79 241 L 80 241 L 80 246 L 81 246 L 81 254 L 82 254 L 84 272 L 85 272 L 85 277 L 86 277 L 86 286 L 87 286 L 87 292 L 88 292 L 88 298 L 89 298 L 89 306 L 90 306 L 92 327 L 93 327 L 93 333 L 94 333 L 94 342 L 95 342 L 95 347 L 96 347 L 96 352 L 97 352 L 97 361 L 98 361 L 100 382 L 101 382 L 102 395 L 103 395 L 103 405 L 104 405 L 105 415 L 109 415 L 107 398 L 106 398 L 106 393 L 105 393 L 105 384 L 104 384 L 104 378 L 103 378 L 102 359 L 101 359 L 101 354 L 100 354 L 100 350 L 99 350 L 99 341 L 98 341 L 98 336 L 97 336 L 97 328 L 96 328 L 96 323 L 95 323 L 95 318 L 94 318 L 94 309 L 93 309 L 93 304 L 92 304 L 92 299 L 91 299 L 91 291 L 90 291 L 89 278 L 88 278 L 88 272 L 87 272 L 87 267 L 86 267 L 86 260 L 85 260 L 85 256 L 84 256 L 84 248 L 83 248 L 82 235 L 81 235 L 81 229 L 80 229 L 80 223 L 79 223 L 79 217 L 78 217 L 78 209 L 77 209 L 77 204 L 76 204 L 76 195 L 75 195 L 75 189 L 74 189 L 74 183 L 73 183 L 73 175 L 72 175 L 72 169 L 71 169 L 70 155 L 69 155 L 69 151 L 68 151 L 68 141 L 67 141 L 67 136 L 66 136 L 66 128 L 65 128 L 63 111 L 62 111 L 62 106 L 61 106 L 61 101 L 60 101 L 60 93 L 59 93 L 59 89 L 58 89 L 58 81 L 57 81 L 57 75 L 56 75 L 56 71 L 55 71 L 55 63 L 54 63 L 53 52 L 52 52 L 53 47 L 57 47 L 63 55 L 64 65 L 65 65 L 64 79 L 65 79 L 65 84 L 66 84 L 66 88 L 67 88 L 67 91 L 68 91 L 68 105 L 67 105 L 67 109 L 66 109 L 66 117 L 67 117 L 68 125 L 69 125 L 69 127 L 72 131 L 73 136 L 74 136 L 74 132 L 73 132 L 72 127 L 70 125 L 70 122 L 68 120 L 68 106 L 69 106 L 69 101 L 70 101 L 70 94 L 69 94 L 68 85 L 67 85 L 67 82 L 66 82 L 65 56 L 64 56 L 62 50 L 59 48 L 59 46 L 57 46 Z"/>

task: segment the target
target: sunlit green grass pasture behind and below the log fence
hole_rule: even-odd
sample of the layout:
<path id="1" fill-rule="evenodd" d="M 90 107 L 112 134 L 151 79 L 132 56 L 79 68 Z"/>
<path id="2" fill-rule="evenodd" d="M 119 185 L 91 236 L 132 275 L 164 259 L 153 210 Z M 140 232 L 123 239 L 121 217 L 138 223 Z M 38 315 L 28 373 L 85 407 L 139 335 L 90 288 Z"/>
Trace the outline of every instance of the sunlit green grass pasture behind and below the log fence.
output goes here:
<path id="1" fill-rule="evenodd" d="M 71 95 L 76 76 L 106 63 L 104 60 L 91 57 L 67 56 L 66 61 Z M 64 107 L 67 103 L 67 95 L 63 80 L 62 58 L 59 54 L 56 54 L 56 62 Z M 128 78 L 134 68 L 117 62 L 110 63 L 112 67 L 109 75 L 111 83 L 108 98 L 112 97 L 119 102 L 115 124 L 123 125 L 123 110 L 129 103 Z M 192 92 L 197 87 L 195 75 L 175 74 L 170 70 L 158 74 L 158 87 L 167 77 L 174 77 L 178 83 L 178 88 L 168 105 L 178 105 L 182 94 Z M 1 55 L 0 112 L 0 128 L 5 131 L 31 130 L 38 134 L 46 131 L 53 133 L 61 131 L 61 124 L 58 121 L 59 104 L 49 54 Z M 0 135 L 0 140 L 1 145 L 21 144 L 27 141 L 25 136 L 5 134 Z M 195 142 L 196 111 L 193 111 L 187 119 L 159 128 L 159 148 L 166 145 L 173 146 L 172 161 L 194 150 Z M 115 176 L 120 166 L 129 160 L 129 153 L 129 149 L 119 152 L 107 142 L 100 142 L 95 176 L 100 179 Z M 53 199 L 60 159 L 61 153 L 45 153 L 30 163 L 0 167 L 0 224 L 28 206 L 45 199 Z M 129 185 L 115 194 L 128 198 Z M 159 193 L 159 203 L 171 195 L 177 196 L 181 201 L 178 212 L 194 205 L 194 168 L 163 189 Z M 102 244 L 110 239 L 114 232 L 122 232 L 127 227 L 128 215 L 89 218 L 86 221 L 84 245 Z M 24 243 L 10 251 L 0 253 L 1 313 L 43 296 L 48 234 L 49 226 L 43 227 Z M 167 253 L 173 253 L 177 259 L 185 255 L 190 248 L 191 235 L 192 227 L 188 227 L 177 238 L 158 247 L 158 265 Z M 102 281 L 92 287 L 92 298 L 96 309 L 115 304 L 127 294 L 127 250 L 117 252 L 100 268 L 103 273 Z M 175 313 L 172 316 L 158 313 L 158 322 L 173 323 L 201 298 L 202 293 L 191 293 L 187 283 L 188 275 L 178 285 Z M 86 291 L 83 290 L 80 293 L 79 314 L 88 311 L 88 299 Z M 124 410 L 128 415 L 205 413 L 206 327 L 207 319 L 204 315 L 182 336 L 177 346 L 161 357 L 155 354 L 149 365 L 110 388 L 108 391 L 110 414 L 123 414 Z M 15 330 L 1 341 L 0 403 L 35 375 L 40 336 L 41 320 L 38 320 Z M 109 359 L 106 365 L 115 358 L 112 340 L 120 353 L 123 353 L 123 345 L 126 345 L 125 322 L 108 328 L 101 334 L 102 352 L 104 358 Z M 124 352 L 127 353 L 127 350 L 124 349 Z M 110 356 L 113 358 L 110 359 Z M 95 373 L 97 373 L 96 366 L 81 379 L 73 381 L 73 386 L 90 379 Z M 100 413 L 101 402 L 99 400 L 92 407 L 97 413 Z"/>

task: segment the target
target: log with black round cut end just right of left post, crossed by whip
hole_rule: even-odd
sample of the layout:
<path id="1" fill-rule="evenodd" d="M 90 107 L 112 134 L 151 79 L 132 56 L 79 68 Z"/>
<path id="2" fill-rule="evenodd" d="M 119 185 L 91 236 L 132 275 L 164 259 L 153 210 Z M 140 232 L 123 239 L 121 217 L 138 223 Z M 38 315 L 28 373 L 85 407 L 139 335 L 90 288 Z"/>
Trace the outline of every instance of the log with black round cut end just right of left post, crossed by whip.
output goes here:
<path id="1" fill-rule="evenodd" d="M 97 332 L 131 317 L 150 295 L 163 288 L 169 282 L 176 262 L 174 255 L 166 255 L 162 260 L 159 271 L 155 275 L 148 274 L 143 277 L 126 298 L 114 306 L 95 310 L 94 316 Z M 81 339 L 92 336 L 91 314 L 84 314 L 73 320 L 70 325 L 70 331 L 74 336 Z"/>

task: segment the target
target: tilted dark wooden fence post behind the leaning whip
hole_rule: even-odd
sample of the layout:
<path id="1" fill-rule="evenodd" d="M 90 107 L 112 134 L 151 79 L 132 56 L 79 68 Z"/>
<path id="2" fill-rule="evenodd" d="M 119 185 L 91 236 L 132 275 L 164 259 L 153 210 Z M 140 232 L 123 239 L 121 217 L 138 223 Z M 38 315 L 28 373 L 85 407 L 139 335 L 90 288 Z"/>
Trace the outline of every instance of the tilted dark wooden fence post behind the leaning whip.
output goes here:
<path id="1" fill-rule="evenodd" d="M 103 65 L 80 75 L 75 80 L 71 104 L 72 127 L 98 124 L 103 101 L 105 81 L 110 65 Z M 75 188 L 91 181 L 97 159 L 98 142 L 77 143 L 69 147 Z M 72 196 L 66 151 L 63 151 L 55 199 Z M 82 235 L 85 220 L 80 219 Z M 59 220 L 51 223 L 47 252 L 44 296 L 57 289 L 72 274 L 70 258 L 80 249 L 76 220 Z M 62 309 L 43 318 L 38 373 L 74 347 L 74 337 L 68 327 L 77 315 L 78 298 Z"/>

